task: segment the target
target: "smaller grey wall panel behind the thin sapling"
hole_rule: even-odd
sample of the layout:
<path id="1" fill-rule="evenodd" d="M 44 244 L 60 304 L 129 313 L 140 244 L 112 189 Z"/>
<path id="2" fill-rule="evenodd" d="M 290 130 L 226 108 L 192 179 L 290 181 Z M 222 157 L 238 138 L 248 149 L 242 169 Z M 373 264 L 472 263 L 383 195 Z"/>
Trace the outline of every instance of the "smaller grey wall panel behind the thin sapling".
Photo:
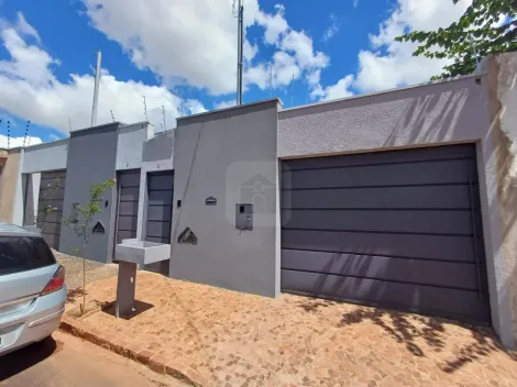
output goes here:
<path id="1" fill-rule="evenodd" d="M 66 186 L 64 218 L 72 214 L 73 203 L 85 204 L 91 184 L 101 183 L 116 177 L 117 130 L 119 123 L 100 125 L 94 129 L 70 133 L 68 162 L 66 164 Z M 112 252 L 114 232 L 116 196 L 113 189 L 105 194 L 108 208 L 94 220 L 100 220 L 106 228 L 105 234 L 92 234 L 82 256 L 98 262 L 109 262 Z M 80 247 L 81 239 L 73 230 L 63 226 L 59 248 L 69 253 L 73 247 Z"/>

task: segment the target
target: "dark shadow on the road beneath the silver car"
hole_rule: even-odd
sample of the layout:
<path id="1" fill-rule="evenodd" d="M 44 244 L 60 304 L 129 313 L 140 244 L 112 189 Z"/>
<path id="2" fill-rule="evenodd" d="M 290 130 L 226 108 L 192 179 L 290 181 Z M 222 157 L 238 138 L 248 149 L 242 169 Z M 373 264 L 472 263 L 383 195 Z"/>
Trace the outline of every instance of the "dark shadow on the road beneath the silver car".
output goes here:
<path id="1" fill-rule="evenodd" d="M 47 338 L 38 343 L 31 344 L 24 349 L 1 356 L 0 382 L 35 366 L 45 358 L 59 352 L 62 349 L 62 342 L 55 341 L 53 338 Z"/>

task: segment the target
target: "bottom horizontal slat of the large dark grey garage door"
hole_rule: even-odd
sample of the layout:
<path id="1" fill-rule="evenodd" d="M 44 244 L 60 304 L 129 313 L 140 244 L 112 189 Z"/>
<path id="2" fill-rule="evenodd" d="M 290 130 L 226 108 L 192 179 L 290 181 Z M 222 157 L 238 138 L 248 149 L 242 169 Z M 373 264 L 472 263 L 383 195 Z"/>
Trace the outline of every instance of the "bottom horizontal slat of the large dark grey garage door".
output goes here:
<path id="1" fill-rule="evenodd" d="M 475 291 L 292 270 L 282 270 L 282 288 L 468 321 L 490 321 L 487 303 Z"/>

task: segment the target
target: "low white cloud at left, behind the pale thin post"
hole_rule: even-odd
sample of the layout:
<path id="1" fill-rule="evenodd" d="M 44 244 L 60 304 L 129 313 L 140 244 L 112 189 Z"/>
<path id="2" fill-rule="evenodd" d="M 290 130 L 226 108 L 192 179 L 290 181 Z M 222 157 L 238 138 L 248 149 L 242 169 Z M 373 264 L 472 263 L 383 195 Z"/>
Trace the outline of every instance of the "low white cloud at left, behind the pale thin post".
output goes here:
<path id="1" fill-rule="evenodd" d="M 0 26 L 0 37 L 11 55 L 11 60 L 0 62 L 0 108 L 34 123 L 68 132 L 68 117 L 73 130 L 90 124 L 94 77 L 70 74 L 68 82 L 59 81 L 52 73 L 57 60 L 36 45 L 28 44 L 15 26 Z M 94 60 L 95 58 L 92 58 Z M 143 99 L 147 115 L 160 128 L 162 106 L 165 107 L 168 126 L 175 124 L 180 99 L 163 86 L 148 86 L 140 81 L 120 81 L 102 70 L 97 123 L 111 122 L 110 110 L 118 121 L 131 123 L 145 120 Z M 189 102 L 199 111 L 200 103 Z"/>

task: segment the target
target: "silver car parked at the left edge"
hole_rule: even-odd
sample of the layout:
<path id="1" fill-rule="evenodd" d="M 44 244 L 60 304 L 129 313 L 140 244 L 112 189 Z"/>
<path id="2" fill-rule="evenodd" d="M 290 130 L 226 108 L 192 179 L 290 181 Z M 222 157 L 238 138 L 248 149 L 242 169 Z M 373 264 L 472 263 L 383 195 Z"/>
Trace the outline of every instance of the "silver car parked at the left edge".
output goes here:
<path id="1" fill-rule="evenodd" d="M 66 292 L 65 268 L 43 237 L 0 223 L 0 356 L 57 330 Z"/>

